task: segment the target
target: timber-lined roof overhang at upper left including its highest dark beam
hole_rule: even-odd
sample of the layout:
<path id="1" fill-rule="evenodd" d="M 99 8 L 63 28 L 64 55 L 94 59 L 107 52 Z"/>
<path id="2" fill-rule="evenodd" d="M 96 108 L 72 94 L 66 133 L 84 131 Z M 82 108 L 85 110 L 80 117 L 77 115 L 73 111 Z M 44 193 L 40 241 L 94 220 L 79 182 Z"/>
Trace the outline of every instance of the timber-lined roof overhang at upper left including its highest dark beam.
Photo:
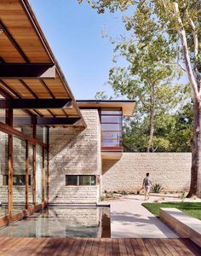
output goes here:
<path id="1" fill-rule="evenodd" d="M 1 0 L 0 9 L 0 94 L 6 99 L 27 100 L 26 109 L 32 115 L 80 119 L 78 126 L 85 127 L 78 104 L 28 1 Z M 46 99 L 49 104 L 46 102 L 47 108 L 29 108 L 28 101 L 34 99 Z M 52 108 L 61 99 L 72 102 L 72 108 Z"/>

